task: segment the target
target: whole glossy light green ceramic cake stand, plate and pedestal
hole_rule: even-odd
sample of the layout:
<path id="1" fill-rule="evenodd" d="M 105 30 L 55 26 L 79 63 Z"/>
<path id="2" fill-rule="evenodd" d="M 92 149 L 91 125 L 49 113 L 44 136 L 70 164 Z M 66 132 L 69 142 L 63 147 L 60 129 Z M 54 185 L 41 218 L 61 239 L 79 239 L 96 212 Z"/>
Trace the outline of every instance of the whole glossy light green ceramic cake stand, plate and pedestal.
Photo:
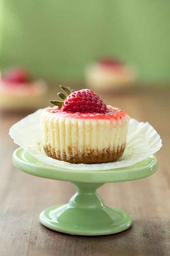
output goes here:
<path id="1" fill-rule="evenodd" d="M 48 165 L 19 147 L 13 153 L 14 165 L 29 174 L 70 181 L 77 193 L 67 204 L 52 206 L 40 214 L 40 222 L 51 230 L 83 236 L 114 234 L 128 229 L 131 217 L 118 208 L 105 206 L 96 189 L 107 182 L 130 181 L 152 175 L 158 169 L 154 155 L 134 165 L 97 171 L 71 170 Z"/>

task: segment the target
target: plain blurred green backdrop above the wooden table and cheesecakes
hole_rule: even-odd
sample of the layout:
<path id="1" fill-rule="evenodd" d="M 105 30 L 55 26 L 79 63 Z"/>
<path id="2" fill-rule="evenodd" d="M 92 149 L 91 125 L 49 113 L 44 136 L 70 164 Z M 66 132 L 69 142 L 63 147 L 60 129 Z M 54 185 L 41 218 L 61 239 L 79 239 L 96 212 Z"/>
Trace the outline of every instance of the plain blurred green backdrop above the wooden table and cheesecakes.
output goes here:
<path id="1" fill-rule="evenodd" d="M 140 81 L 170 81 L 170 1 L 0 0 L 1 69 L 82 81 L 105 55 L 133 64 Z"/>

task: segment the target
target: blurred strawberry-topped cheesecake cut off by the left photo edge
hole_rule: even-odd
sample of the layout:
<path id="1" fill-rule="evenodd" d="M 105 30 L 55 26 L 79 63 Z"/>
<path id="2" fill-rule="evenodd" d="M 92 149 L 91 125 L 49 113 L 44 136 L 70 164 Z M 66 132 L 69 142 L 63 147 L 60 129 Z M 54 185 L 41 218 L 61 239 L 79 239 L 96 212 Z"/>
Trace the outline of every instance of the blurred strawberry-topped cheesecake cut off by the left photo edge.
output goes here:
<path id="1" fill-rule="evenodd" d="M 45 81 L 32 81 L 23 67 L 5 69 L 0 77 L 0 110 L 36 110 L 42 107 L 46 92 Z"/>

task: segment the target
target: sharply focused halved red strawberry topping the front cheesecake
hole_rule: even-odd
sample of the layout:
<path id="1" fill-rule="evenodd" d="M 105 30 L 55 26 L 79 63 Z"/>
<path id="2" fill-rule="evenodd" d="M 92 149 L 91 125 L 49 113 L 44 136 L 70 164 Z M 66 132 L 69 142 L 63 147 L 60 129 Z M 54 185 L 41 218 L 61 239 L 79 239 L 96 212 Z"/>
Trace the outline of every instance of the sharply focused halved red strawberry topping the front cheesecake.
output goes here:
<path id="1" fill-rule="evenodd" d="M 68 112 L 103 114 L 109 112 L 107 106 L 99 96 L 89 89 L 75 91 L 68 95 L 61 107 L 61 110 Z"/>

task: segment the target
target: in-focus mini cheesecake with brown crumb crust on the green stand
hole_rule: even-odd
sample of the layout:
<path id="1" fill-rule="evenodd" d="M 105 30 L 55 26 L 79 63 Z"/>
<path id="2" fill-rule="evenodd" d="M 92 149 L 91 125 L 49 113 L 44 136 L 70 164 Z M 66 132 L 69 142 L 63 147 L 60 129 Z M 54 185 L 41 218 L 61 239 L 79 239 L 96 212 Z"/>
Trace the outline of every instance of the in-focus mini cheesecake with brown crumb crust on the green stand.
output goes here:
<path id="1" fill-rule="evenodd" d="M 70 99 L 71 104 L 73 101 L 82 103 L 76 101 L 76 97 L 72 98 L 65 100 L 66 107 Z M 87 100 L 86 105 L 89 104 Z M 118 107 L 105 105 L 104 108 L 107 111 L 94 112 L 97 107 L 94 110 L 90 107 L 88 113 L 88 109 L 82 111 L 81 107 L 81 112 L 70 112 L 63 111 L 62 106 L 54 106 L 43 111 L 40 124 L 45 153 L 69 163 L 103 163 L 121 157 L 126 147 L 130 117 Z"/>

